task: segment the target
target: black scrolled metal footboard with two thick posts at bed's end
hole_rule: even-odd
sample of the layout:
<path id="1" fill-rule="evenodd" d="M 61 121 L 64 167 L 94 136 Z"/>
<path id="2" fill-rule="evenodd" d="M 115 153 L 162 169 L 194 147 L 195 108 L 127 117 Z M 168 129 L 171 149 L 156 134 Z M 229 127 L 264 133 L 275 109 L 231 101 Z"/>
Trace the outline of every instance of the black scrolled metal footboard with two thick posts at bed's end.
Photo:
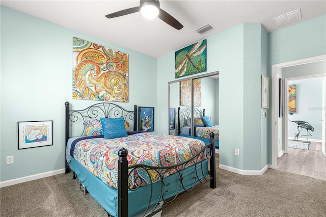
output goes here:
<path id="1" fill-rule="evenodd" d="M 136 186 L 130 188 L 128 186 L 128 179 L 130 179 L 130 174 L 133 170 L 143 170 L 146 174 L 151 176 L 150 171 L 154 171 L 156 174 L 160 176 L 160 192 L 159 197 L 154 198 L 154 187 L 151 183 L 150 185 L 150 199 L 147 205 L 147 209 L 142 211 L 142 216 L 153 216 L 156 213 L 160 212 L 162 209 L 170 205 L 175 200 L 179 199 L 186 195 L 187 192 L 192 191 L 193 189 L 198 188 L 199 186 L 203 185 L 204 183 L 210 181 L 210 187 L 216 187 L 216 177 L 215 177 L 215 142 L 214 142 L 214 133 L 210 134 L 210 144 L 207 144 L 198 154 L 194 155 L 191 159 L 184 161 L 180 164 L 171 166 L 171 167 L 152 167 L 148 165 L 134 165 L 128 167 L 128 160 L 127 155 L 128 151 L 125 148 L 119 150 L 119 163 L 118 163 L 118 216 L 128 216 L 128 189 L 129 191 L 137 191 L 140 187 Z M 199 160 L 199 159 L 202 160 Z M 209 172 L 208 176 L 203 172 L 203 160 L 209 160 Z M 189 165 L 193 165 L 192 174 L 194 178 L 192 179 L 193 183 L 189 186 L 185 184 L 186 179 L 184 179 L 184 171 L 189 169 Z M 128 172 L 130 170 L 130 172 Z M 175 195 L 171 197 L 166 195 L 168 191 L 163 191 L 163 187 L 169 185 L 164 178 L 164 173 L 168 170 L 176 170 L 178 176 L 178 190 Z M 137 179 L 137 178 L 136 178 Z M 139 180 L 141 181 L 141 180 Z M 157 185 L 156 185 L 157 186 Z"/>

